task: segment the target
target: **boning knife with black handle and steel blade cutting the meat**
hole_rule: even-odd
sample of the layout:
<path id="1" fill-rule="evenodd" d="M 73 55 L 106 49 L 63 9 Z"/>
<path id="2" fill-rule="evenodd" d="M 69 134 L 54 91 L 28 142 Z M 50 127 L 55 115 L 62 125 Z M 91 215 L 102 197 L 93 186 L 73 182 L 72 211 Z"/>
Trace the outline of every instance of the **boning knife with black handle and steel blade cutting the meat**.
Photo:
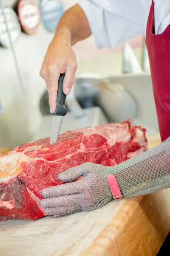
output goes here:
<path id="1" fill-rule="evenodd" d="M 65 108 L 65 99 L 66 95 L 63 93 L 62 84 L 64 80 L 64 74 L 60 74 L 58 81 L 58 92 L 57 92 L 57 107 L 53 113 L 53 125 L 51 131 L 50 143 L 53 145 L 57 142 L 59 131 L 62 125 L 62 119 L 67 113 L 67 109 Z"/>

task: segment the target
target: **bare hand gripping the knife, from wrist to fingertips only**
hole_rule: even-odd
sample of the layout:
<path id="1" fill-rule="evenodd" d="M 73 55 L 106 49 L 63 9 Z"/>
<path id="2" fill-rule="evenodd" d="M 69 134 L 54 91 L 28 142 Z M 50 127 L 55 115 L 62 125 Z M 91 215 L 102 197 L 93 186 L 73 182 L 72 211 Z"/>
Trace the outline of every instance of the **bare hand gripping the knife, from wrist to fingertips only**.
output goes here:
<path id="1" fill-rule="evenodd" d="M 59 32 L 49 45 L 40 70 L 40 76 L 47 86 L 51 113 L 54 113 L 56 109 L 60 74 L 65 73 L 63 91 L 68 95 L 74 84 L 76 70 L 77 58 L 71 48 L 70 35 L 68 32 Z"/>

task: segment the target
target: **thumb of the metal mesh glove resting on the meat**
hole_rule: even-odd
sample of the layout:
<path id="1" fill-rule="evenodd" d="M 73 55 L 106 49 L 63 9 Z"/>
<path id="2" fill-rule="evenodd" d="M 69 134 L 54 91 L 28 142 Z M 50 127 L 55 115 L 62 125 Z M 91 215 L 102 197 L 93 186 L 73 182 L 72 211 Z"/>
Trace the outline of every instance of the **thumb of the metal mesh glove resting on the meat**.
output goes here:
<path id="1" fill-rule="evenodd" d="M 76 180 L 82 175 L 84 176 L 90 171 L 91 168 L 89 168 L 90 167 L 89 164 L 91 163 L 84 163 L 80 166 L 73 167 L 68 169 L 67 171 L 61 172 L 58 175 L 58 179 L 64 182 L 70 182 L 70 181 Z"/>

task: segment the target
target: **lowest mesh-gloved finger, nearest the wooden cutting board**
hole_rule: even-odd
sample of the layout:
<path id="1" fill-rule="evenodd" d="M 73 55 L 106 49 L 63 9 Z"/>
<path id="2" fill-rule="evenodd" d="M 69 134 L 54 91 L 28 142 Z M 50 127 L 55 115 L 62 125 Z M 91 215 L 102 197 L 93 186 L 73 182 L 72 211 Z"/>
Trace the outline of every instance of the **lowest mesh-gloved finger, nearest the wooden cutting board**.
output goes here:
<path id="1" fill-rule="evenodd" d="M 45 215 L 54 215 L 55 218 L 69 215 L 74 212 L 78 212 L 78 206 L 74 205 L 71 207 L 57 207 L 57 208 L 46 208 L 44 209 Z"/>

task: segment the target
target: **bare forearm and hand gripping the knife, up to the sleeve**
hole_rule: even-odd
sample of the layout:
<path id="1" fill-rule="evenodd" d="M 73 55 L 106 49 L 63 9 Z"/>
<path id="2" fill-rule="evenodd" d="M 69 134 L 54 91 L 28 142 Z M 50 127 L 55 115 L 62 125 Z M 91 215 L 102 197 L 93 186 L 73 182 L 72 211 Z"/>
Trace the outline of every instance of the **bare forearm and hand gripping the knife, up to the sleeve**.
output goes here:
<path id="1" fill-rule="evenodd" d="M 53 41 L 48 47 L 40 76 L 45 80 L 50 112 L 56 109 L 58 79 L 61 73 L 65 73 L 63 91 L 68 95 L 74 83 L 77 70 L 77 58 L 71 46 L 91 35 L 88 19 L 82 8 L 76 4 L 68 9 L 56 29 Z"/>

